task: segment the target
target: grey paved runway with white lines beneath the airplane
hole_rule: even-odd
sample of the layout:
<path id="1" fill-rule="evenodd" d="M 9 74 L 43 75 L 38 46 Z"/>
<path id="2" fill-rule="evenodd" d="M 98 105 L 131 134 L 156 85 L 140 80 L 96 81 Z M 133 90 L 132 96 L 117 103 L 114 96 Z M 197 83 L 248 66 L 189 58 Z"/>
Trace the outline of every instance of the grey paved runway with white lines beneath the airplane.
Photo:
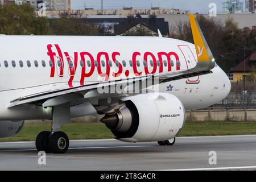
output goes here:
<path id="1" fill-rule="evenodd" d="M 216 165 L 209 151 L 216 151 Z M 256 135 L 178 137 L 174 146 L 71 140 L 66 154 L 47 154 L 46 165 L 38 158 L 35 142 L 0 143 L 0 170 L 256 170 Z"/>

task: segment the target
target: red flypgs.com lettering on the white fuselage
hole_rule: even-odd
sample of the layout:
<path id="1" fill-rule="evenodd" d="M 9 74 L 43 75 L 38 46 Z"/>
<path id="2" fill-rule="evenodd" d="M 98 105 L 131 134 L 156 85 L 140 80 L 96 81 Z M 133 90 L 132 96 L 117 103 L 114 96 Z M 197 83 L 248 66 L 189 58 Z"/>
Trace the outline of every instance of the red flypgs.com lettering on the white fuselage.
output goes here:
<path id="1" fill-rule="evenodd" d="M 131 61 L 133 61 L 133 68 L 132 71 L 133 73 L 130 73 L 131 70 L 129 60 L 126 60 L 126 67 L 123 67 L 121 59 L 122 55 L 120 52 L 115 51 L 115 52 L 98 52 L 97 55 L 92 55 L 90 52 L 65 52 L 62 51 L 59 44 L 48 44 L 47 45 L 47 55 L 49 56 L 49 59 L 52 60 L 52 67 L 51 67 L 51 75 L 50 77 L 55 77 L 56 71 L 55 69 L 58 69 L 59 74 L 57 76 L 63 77 L 64 73 L 64 61 L 68 61 L 68 67 L 69 67 L 69 73 L 70 73 L 70 78 L 68 81 L 68 84 L 70 87 L 72 87 L 72 81 L 74 79 L 75 73 L 77 71 L 77 68 L 81 69 L 81 78 L 80 78 L 80 84 L 81 86 L 84 85 L 84 81 L 86 81 L 86 78 L 90 77 L 93 75 L 94 72 L 98 73 L 98 76 L 104 77 L 105 81 L 109 80 L 110 77 L 110 65 L 109 61 L 112 60 L 113 64 L 115 66 L 116 62 L 118 61 L 118 69 L 116 72 L 112 73 L 113 77 L 118 77 L 122 73 L 125 73 L 126 77 L 129 77 L 130 74 L 133 74 L 134 76 L 141 76 L 142 72 L 138 71 L 138 66 L 137 66 L 137 60 L 144 60 L 147 62 L 146 66 L 143 65 L 142 61 L 140 61 L 142 69 L 144 69 L 144 74 L 145 75 L 150 75 L 154 74 L 157 71 L 158 64 L 157 61 L 159 60 L 160 66 L 159 66 L 159 73 L 163 72 L 163 61 L 167 61 L 167 68 L 168 72 L 172 71 L 172 66 L 171 66 L 171 56 L 174 56 L 176 60 L 173 60 L 174 63 L 176 63 L 176 69 L 179 70 L 180 67 L 177 65 L 177 60 L 179 60 L 179 56 L 175 52 L 158 52 L 158 53 L 152 53 L 152 52 L 133 52 L 131 54 Z M 61 66 L 59 68 L 56 68 L 56 57 L 59 58 L 61 61 Z M 86 61 L 90 61 L 90 67 L 86 64 Z M 105 62 L 105 72 L 102 71 L 102 64 L 101 61 Z M 152 71 L 149 71 L 148 66 L 151 67 L 150 61 L 153 61 L 154 64 L 152 64 Z M 69 64 L 69 61 L 72 61 L 73 64 Z M 77 64 L 82 61 L 83 62 L 83 67 L 77 66 Z M 94 64 L 94 61 L 97 61 L 98 66 Z"/>

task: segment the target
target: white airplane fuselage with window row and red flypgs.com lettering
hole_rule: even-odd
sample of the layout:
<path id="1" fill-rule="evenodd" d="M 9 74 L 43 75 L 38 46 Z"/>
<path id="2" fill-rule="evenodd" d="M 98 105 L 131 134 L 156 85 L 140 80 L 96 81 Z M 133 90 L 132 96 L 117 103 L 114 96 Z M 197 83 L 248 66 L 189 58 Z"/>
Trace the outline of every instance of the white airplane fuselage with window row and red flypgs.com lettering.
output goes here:
<path id="1" fill-rule="evenodd" d="M 181 71 L 197 64 L 193 44 L 170 38 L 0 36 L 0 41 L 0 120 L 51 118 L 51 108 L 40 105 L 9 109 L 10 102 L 20 97 Z M 174 94 L 186 110 L 193 110 L 225 98 L 230 81 L 216 65 L 210 74 L 165 82 L 155 91 Z M 94 112 L 86 101 L 71 107 L 72 117 Z"/>

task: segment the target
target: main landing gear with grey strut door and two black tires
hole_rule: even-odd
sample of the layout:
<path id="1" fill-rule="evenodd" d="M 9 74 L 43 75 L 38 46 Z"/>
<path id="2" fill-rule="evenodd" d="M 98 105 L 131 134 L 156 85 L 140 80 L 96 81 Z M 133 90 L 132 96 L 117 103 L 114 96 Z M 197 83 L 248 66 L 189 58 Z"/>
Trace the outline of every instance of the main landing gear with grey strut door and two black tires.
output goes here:
<path id="1" fill-rule="evenodd" d="M 70 121 L 69 106 L 55 106 L 52 110 L 52 131 L 42 131 L 38 134 L 36 149 L 46 153 L 63 154 L 68 150 L 69 139 L 64 132 L 57 130 Z"/>

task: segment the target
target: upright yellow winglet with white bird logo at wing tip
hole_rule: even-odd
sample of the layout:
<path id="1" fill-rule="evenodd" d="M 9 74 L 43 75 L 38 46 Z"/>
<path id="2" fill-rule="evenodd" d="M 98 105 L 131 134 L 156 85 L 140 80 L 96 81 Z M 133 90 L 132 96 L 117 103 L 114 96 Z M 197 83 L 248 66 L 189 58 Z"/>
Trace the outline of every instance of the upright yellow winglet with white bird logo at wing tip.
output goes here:
<path id="1" fill-rule="evenodd" d="M 196 47 L 198 64 L 201 63 L 201 66 L 210 70 L 214 68 L 215 59 L 204 38 L 204 35 L 203 35 L 203 32 L 201 31 L 199 23 L 196 20 L 196 16 L 193 14 L 189 14 L 189 21 L 191 24 L 193 40 Z"/>

